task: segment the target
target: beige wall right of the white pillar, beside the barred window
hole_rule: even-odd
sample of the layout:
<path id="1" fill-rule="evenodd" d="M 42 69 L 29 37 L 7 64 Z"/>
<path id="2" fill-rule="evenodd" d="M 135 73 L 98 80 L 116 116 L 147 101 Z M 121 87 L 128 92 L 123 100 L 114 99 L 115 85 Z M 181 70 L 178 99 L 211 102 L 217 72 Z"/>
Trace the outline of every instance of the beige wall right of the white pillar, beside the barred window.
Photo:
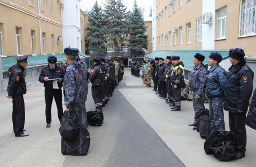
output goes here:
<path id="1" fill-rule="evenodd" d="M 225 6 L 227 7 L 226 40 L 217 40 L 217 10 Z M 256 36 L 239 38 L 240 1 L 216 0 L 215 10 L 215 49 L 226 50 L 238 47 L 244 50 L 245 55 L 256 56 L 253 47 Z"/>

